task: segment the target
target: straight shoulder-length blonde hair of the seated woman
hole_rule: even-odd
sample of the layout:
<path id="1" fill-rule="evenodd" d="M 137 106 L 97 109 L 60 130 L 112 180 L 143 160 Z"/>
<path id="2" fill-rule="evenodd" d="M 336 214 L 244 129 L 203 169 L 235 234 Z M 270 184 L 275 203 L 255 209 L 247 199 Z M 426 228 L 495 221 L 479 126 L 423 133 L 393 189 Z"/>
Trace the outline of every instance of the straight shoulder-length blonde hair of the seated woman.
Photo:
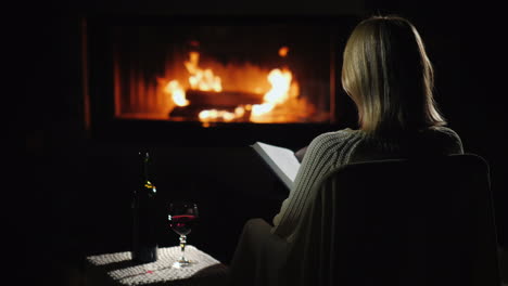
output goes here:
<path id="1" fill-rule="evenodd" d="M 399 16 L 373 16 L 347 40 L 342 86 L 369 133 L 444 126 L 433 98 L 434 75 L 415 26 Z"/>

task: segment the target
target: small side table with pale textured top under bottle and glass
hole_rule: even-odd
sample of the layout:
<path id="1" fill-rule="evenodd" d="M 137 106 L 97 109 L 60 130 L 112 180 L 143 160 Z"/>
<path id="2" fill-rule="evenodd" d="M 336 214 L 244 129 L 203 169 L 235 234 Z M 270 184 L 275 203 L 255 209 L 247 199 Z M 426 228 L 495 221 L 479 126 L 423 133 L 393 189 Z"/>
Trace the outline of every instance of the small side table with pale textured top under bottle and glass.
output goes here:
<path id="1" fill-rule="evenodd" d="M 190 268 L 172 264 L 181 252 L 178 246 L 158 248 L 155 262 L 139 264 L 130 251 L 89 256 L 86 258 L 85 285 L 151 285 L 214 286 L 227 284 L 228 268 L 192 245 L 186 246 L 186 257 L 198 261 Z"/>

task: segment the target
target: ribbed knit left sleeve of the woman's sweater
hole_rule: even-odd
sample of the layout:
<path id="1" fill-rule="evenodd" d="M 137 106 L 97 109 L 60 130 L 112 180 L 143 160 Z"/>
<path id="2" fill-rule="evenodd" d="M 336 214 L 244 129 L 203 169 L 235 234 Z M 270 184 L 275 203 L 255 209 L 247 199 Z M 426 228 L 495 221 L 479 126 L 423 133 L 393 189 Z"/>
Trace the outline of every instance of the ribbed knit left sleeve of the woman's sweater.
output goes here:
<path id="1" fill-rule="evenodd" d="M 296 174 L 293 188 L 274 218 L 272 233 L 290 238 L 295 231 L 301 214 L 313 195 L 310 191 L 332 167 L 340 160 L 339 151 L 346 143 L 346 132 L 338 131 L 321 134 L 308 145 L 305 157 Z"/>

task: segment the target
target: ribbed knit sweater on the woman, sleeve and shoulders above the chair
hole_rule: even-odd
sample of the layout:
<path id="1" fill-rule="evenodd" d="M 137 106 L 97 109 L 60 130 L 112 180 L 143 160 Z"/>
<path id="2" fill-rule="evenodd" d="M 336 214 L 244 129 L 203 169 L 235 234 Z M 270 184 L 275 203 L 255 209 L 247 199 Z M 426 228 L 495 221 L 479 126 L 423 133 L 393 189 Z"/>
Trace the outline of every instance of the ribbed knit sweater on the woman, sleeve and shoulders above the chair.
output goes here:
<path id="1" fill-rule="evenodd" d="M 272 232 L 292 240 L 314 184 L 328 171 L 350 162 L 404 158 L 411 155 L 462 154 L 458 134 L 433 127 L 411 136 L 379 138 L 360 130 L 344 129 L 315 138 L 305 153 L 289 197 L 274 218 Z"/>

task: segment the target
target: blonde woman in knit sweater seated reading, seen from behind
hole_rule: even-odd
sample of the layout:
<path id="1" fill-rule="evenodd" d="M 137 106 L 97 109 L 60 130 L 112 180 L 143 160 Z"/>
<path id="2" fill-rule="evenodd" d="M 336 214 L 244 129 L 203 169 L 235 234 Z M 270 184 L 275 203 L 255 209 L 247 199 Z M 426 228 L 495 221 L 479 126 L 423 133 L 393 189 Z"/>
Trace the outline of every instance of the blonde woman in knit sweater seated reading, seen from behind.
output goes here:
<path id="1" fill-rule="evenodd" d="M 460 138 L 445 127 L 437 112 L 432 65 L 420 35 L 407 20 L 373 16 L 359 23 L 344 50 L 342 84 L 358 109 L 359 129 L 329 132 L 312 141 L 274 226 L 259 220 L 245 225 L 232 260 L 233 272 L 242 269 L 234 264 L 246 260 L 243 253 L 261 249 L 250 246 L 245 250 L 244 242 L 251 239 L 252 245 L 255 239 L 262 245 L 263 232 L 270 230 L 285 242 L 295 240 L 312 191 L 330 170 L 366 160 L 463 153 Z"/>

